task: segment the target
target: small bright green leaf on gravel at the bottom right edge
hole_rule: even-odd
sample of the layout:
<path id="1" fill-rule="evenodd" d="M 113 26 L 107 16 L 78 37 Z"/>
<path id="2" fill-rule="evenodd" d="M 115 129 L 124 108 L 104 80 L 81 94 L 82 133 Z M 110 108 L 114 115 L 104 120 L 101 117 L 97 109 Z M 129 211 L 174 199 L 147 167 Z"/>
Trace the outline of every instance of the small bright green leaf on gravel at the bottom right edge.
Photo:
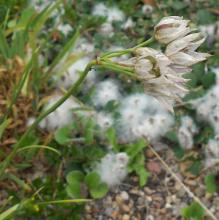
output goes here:
<path id="1" fill-rule="evenodd" d="M 204 220 L 204 214 L 204 209 L 197 202 L 193 202 L 181 210 L 181 215 L 185 220 Z"/>

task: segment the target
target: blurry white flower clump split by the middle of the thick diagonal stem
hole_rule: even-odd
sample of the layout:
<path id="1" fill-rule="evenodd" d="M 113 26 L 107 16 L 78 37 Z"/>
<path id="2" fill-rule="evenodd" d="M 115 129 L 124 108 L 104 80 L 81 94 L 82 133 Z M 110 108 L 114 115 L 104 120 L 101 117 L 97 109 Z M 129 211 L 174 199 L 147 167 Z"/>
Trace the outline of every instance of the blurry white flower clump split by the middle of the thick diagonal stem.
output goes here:
<path id="1" fill-rule="evenodd" d="M 48 100 L 48 103 L 45 106 L 45 110 L 55 104 L 61 97 L 62 96 L 60 94 L 52 96 Z M 55 111 L 44 118 L 43 121 L 41 121 L 41 123 L 39 124 L 39 127 L 47 131 L 55 131 L 56 129 L 71 123 L 74 120 L 72 110 L 78 107 L 79 104 L 76 103 L 73 99 L 67 99 Z"/>

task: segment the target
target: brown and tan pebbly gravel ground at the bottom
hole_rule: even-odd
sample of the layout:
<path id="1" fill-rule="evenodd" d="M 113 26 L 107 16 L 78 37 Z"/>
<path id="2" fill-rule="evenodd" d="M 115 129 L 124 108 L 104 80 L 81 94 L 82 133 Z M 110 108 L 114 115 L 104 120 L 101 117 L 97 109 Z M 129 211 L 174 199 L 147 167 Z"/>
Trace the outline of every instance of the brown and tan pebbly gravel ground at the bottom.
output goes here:
<path id="1" fill-rule="evenodd" d="M 166 172 L 162 164 L 147 150 L 146 167 L 151 176 L 145 187 L 138 186 L 136 176 L 129 177 L 101 200 L 86 205 L 86 220 L 173 220 L 182 219 L 181 208 L 192 202 L 192 198 L 181 185 Z M 179 163 L 171 150 L 159 152 L 175 173 L 179 173 Z M 219 197 L 206 193 L 203 177 L 178 175 L 185 185 L 219 219 Z M 206 217 L 210 220 L 210 217 Z"/>

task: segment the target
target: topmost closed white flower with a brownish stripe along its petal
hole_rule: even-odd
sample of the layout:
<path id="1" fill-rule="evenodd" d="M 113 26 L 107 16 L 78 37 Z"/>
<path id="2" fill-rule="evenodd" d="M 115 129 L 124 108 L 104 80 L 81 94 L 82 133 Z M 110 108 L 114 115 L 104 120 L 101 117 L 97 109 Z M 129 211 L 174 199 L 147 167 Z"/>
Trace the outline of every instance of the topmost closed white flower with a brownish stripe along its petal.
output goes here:
<path id="1" fill-rule="evenodd" d="M 178 38 L 186 36 L 191 32 L 188 20 L 179 16 L 164 17 L 155 26 L 155 38 L 164 44 L 168 44 Z"/>

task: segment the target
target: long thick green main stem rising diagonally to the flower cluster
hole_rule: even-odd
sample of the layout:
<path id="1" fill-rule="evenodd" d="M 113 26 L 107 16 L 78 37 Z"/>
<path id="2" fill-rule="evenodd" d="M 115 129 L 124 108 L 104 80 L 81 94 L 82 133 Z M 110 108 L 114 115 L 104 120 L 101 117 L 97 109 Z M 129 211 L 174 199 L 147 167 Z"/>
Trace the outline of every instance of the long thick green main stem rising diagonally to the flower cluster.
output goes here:
<path id="1" fill-rule="evenodd" d="M 16 155 L 18 149 L 20 147 L 22 147 L 25 139 L 28 137 L 28 135 L 31 133 L 31 131 L 46 117 L 48 116 L 50 113 L 52 113 L 53 111 L 55 111 L 63 102 L 65 102 L 72 94 L 74 94 L 78 87 L 82 84 L 82 82 L 84 81 L 85 77 L 87 76 L 89 70 L 91 69 L 91 67 L 93 65 L 96 64 L 96 61 L 93 60 L 90 63 L 87 64 L 85 70 L 82 72 L 80 78 L 77 80 L 77 82 L 67 91 L 67 93 L 60 98 L 54 105 L 52 105 L 48 110 L 46 110 L 45 112 L 43 112 L 42 114 L 40 114 L 38 116 L 38 118 L 36 118 L 36 120 L 34 121 L 34 123 L 27 129 L 27 131 L 21 136 L 20 140 L 17 142 L 17 144 L 14 145 L 14 148 L 12 149 L 11 153 L 7 156 L 7 158 L 1 163 L 0 166 L 0 179 L 2 178 L 5 169 L 8 167 L 9 163 L 11 162 L 11 160 L 14 158 L 14 156 Z"/>

